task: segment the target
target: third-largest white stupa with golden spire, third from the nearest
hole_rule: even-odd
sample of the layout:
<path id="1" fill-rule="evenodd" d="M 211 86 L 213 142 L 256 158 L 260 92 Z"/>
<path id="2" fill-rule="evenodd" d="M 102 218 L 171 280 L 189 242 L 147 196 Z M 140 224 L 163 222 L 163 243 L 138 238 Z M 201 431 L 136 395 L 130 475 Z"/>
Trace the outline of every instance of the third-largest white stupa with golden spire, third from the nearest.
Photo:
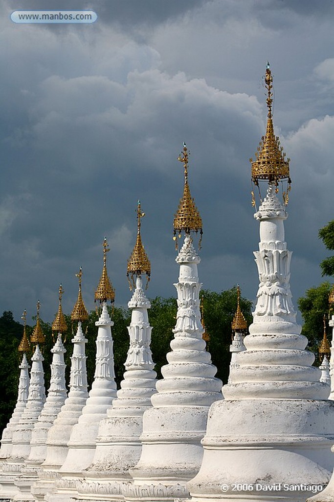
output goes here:
<path id="1" fill-rule="evenodd" d="M 150 277 L 151 264 L 141 241 L 140 226 L 144 213 L 138 201 L 137 241 L 128 261 L 130 287 L 133 296 L 128 303 L 132 310 L 128 327 L 130 347 L 125 361 L 126 371 L 117 392 L 117 399 L 101 420 L 93 464 L 85 471 L 85 481 L 79 486 L 79 497 L 89 499 L 96 496 L 119 498 L 122 496 L 123 482 L 131 480 L 129 468 L 140 459 L 144 411 L 152 406 L 151 396 L 156 392 L 156 372 L 150 349 L 152 327 L 147 309 L 150 302 L 146 298 L 142 275 Z M 136 279 L 135 279 L 136 278 Z"/>

